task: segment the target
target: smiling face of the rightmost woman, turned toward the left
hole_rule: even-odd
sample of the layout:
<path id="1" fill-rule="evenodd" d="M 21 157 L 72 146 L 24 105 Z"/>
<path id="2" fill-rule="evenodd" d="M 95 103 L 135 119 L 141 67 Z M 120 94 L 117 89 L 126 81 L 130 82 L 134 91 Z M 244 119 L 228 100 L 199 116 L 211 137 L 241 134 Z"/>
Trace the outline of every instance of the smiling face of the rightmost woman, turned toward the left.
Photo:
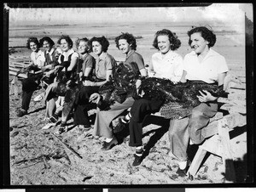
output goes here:
<path id="1" fill-rule="evenodd" d="M 201 54 L 206 49 L 208 49 L 208 44 L 203 37 L 201 37 L 201 32 L 195 32 L 190 36 L 190 47 L 195 51 L 195 54 Z"/>

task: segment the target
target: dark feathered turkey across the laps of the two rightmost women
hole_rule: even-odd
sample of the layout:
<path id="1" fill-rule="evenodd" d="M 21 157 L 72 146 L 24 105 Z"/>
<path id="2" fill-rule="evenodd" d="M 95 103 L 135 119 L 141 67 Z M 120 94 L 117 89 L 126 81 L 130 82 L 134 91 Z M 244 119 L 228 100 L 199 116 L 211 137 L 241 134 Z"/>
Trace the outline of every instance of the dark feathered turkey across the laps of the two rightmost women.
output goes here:
<path id="1" fill-rule="evenodd" d="M 206 90 L 215 97 L 226 97 L 223 86 L 206 82 L 185 82 L 174 84 L 167 79 L 149 77 L 143 80 L 140 93 L 144 98 L 163 99 L 165 103 L 160 114 L 168 119 L 188 116 L 189 112 L 201 102 L 196 97 L 199 91 Z"/>

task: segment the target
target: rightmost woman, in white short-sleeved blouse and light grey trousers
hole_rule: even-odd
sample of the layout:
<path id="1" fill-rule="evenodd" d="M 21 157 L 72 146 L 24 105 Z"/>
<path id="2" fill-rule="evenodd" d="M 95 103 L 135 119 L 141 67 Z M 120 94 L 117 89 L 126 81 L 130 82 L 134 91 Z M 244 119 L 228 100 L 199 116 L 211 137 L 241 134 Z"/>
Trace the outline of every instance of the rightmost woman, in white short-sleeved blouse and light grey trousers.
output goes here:
<path id="1" fill-rule="evenodd" d="M 189 45 L 193 49 L 186 54 L 183 61 L 183 76 L 181 82 L 202 81 L 207 83 L 224 84 L 224 77 L 229 71 L 224 56 L 212 50 L 216 42 L 213 31 L 205 26 L 195 27 L 188 31 Z M 200 69 L 200 70 L 199 70 Z M 201 144 L 205 137 L 204 127 L 207 126 L 210 118 L 218 111 L 217 97 L 211 93 L 204 93 L 197 96 L 201 104 L 196 106 L 189 114 L 189 121 L 183 124 L 176 123 L 179 120 L 171 121 L 169 127 L 169 138 L 171 153 L 179 161 L 177 173 L 185 176 L 189 167 L 187 149 L 190 144 Z"/>

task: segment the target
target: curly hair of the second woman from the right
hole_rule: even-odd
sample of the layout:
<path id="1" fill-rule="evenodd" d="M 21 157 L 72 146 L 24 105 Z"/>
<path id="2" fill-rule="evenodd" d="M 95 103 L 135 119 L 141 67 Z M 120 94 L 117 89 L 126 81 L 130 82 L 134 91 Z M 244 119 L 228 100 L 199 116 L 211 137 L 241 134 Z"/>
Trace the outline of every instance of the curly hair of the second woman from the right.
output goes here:
<path id="1" fill-rule="evenodd" d="M 154 42 L 153 42 L 153 47 L 154 48 L 157 48 L 158 50 L 160 50 L 158 48 L 158 41 L 157 41 L 157 37 L 159 36 L 167 36 L 169 37 L 169 41 L 171 43 L 171 50 L 176 50 L 177 48 L 180 47 L 181 45 L 181 42 L 180 40 L 177 38 L 176 36 L 176 33 L 175 32 L 172 32 L 170 30 L 166 30 L 166 29 L 163 29 L 161 31 L 157 31 L 154 35 Z"/>

